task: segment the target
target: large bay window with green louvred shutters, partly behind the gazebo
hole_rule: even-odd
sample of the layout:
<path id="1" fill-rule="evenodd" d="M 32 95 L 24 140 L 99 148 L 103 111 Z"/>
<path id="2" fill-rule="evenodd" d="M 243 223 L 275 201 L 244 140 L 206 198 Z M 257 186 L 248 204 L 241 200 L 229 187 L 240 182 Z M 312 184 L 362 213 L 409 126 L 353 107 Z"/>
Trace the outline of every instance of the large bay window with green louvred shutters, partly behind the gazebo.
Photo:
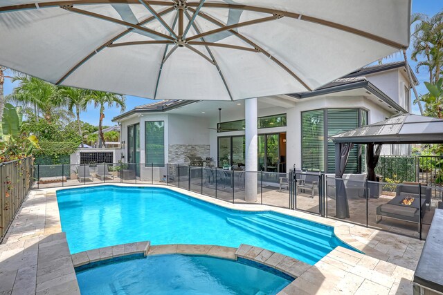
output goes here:
<path id="1" fill-rule="evenodd" d="M 335 144 L 328 137 L 368 124 L 368 111 L 329 108 L 302 112 L 302 169 L 335 171 Z M 325 137 L 325 134 L 327 135 Z M 361 173 L 365 166 L 360 145 L 352 148 L 345 173 Z M 363 169 L 364 170 L 364 169 Z"/>

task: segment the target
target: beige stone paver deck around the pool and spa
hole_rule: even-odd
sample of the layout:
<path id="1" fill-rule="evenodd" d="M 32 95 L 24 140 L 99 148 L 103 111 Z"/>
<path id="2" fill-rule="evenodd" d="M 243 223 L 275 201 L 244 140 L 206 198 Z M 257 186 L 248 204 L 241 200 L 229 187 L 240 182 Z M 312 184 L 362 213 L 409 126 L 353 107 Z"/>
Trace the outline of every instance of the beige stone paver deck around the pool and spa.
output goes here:
<path id="1" fill-rule="evenodd" d="M 365 253 L 337 247 L 300 273 L 282 294 L 412 294 L 411 280 L 424 245 L 422 241 L 300 211 L 260 204 L 231 204 L 169 188 L 222 207 L 273 210 L 332 225 L 338 238 Z M 0 294 L 78 294 L 72 260 L 66 260 L 69 250 L 61 233 L 56 190 L 31 191 L 12 222 L 0 245 Z M 159 253 L 155 247 L 150 249 Z M 178 249 L 177 245 L 165 247 L 176 252 Z M 217 246 L 214 247 L 213 251 L 217 251 Z M 255 247 L 250 256 L 257 254 L 254 258 L 264 259 L 269 255 L 267 250 L 259 250 Z M 291 263 L 297 262 L 291 260 L 286 264 Z"/>

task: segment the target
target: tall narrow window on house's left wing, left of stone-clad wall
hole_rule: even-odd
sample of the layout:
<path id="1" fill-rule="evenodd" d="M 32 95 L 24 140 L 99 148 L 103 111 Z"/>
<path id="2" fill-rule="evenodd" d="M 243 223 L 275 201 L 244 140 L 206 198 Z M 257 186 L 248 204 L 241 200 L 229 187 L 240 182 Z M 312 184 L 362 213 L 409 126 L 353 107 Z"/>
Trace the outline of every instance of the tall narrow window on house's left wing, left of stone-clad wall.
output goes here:
<path id="1" fill-rule="evenodd" d="M 145 122 L 145 164 L 165 165 L 165 122 Z"/>

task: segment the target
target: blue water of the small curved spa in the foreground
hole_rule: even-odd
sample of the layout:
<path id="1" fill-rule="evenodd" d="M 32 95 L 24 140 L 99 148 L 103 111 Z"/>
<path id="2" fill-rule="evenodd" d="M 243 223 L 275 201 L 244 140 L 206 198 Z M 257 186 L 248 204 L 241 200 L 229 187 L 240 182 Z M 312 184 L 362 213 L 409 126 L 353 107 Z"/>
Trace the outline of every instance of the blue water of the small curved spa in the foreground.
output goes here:
<path id="1" fill-rule="evenodd" d="M 292 278 L 232 260 L 160 255 L 93 263 L 75 269 L 82 294 L 277 294 Z"/>

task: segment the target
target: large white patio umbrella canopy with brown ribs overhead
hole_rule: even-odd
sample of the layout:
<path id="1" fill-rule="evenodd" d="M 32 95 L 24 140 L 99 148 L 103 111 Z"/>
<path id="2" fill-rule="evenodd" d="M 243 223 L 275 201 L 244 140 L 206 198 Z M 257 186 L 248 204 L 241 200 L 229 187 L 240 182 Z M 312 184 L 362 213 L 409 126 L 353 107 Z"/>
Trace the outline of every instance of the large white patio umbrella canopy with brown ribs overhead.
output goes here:
<path id="1" fill-rule="evenodd" d="M 311 91 L 409 44 L 410 0 L 3 0 L 0 64 L 155 99 Z"/>

